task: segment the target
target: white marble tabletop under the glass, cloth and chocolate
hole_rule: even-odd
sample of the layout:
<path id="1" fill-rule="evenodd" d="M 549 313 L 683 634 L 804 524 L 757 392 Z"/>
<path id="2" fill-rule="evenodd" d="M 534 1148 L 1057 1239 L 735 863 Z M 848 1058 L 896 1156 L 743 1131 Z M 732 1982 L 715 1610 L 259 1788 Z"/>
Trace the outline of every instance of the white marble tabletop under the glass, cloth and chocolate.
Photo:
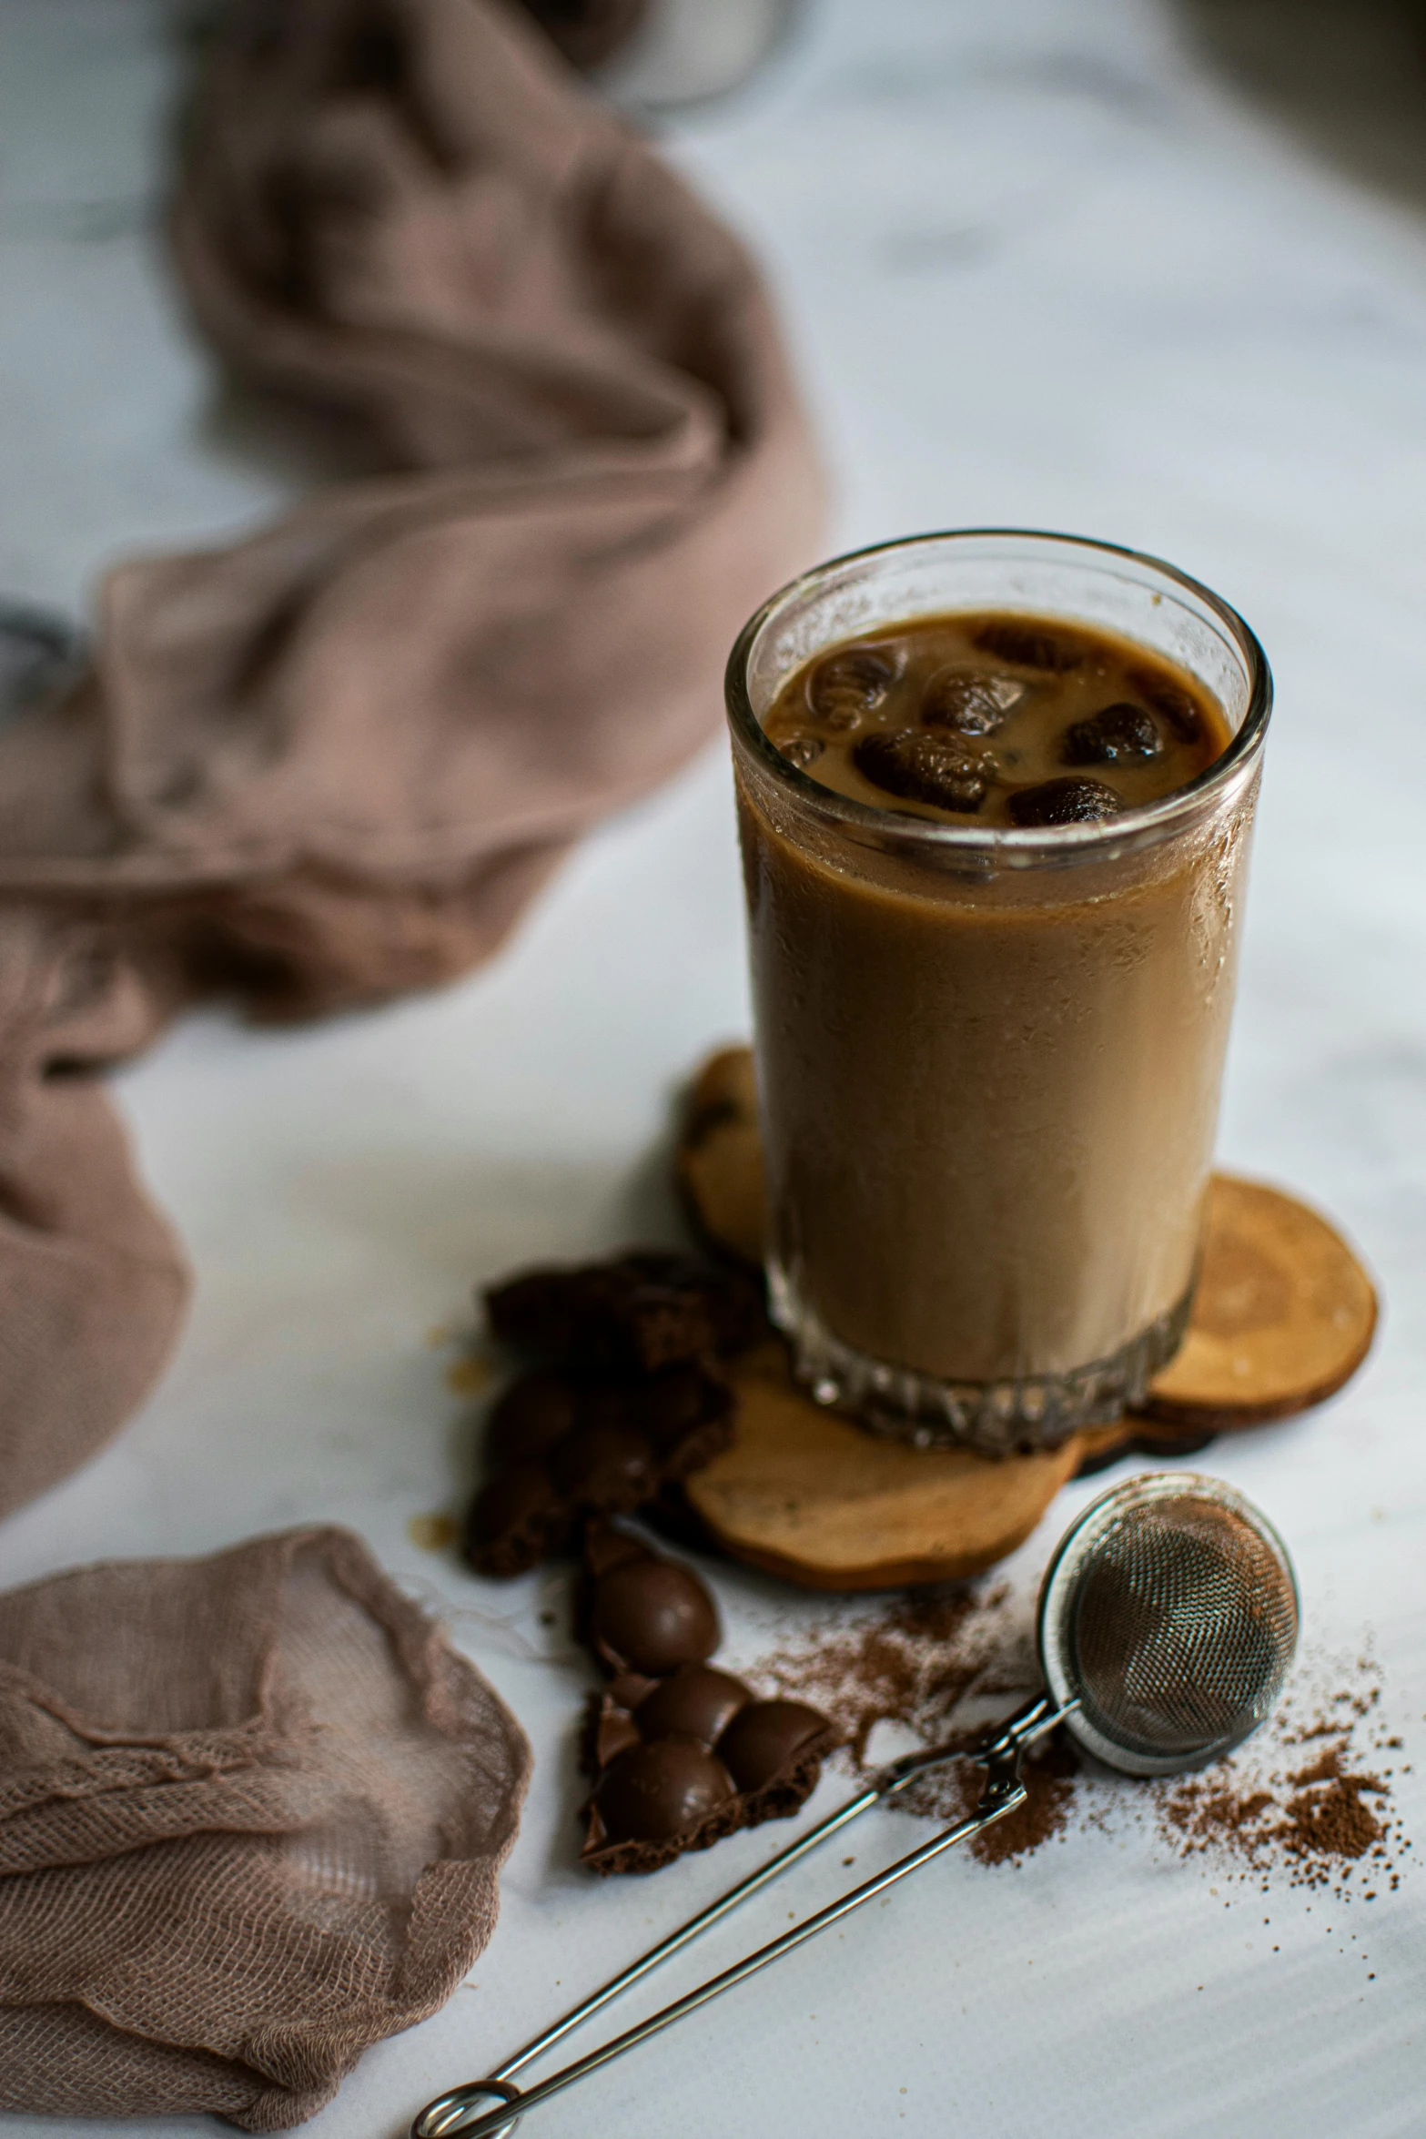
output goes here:
<path id="1" fill-rule="evenodd" d="M 165 278 L 171 79 L 152 0 L 0 0 L 6 590 L 79 603 L 124 548 L 220 537 L 301 481 L 216 402 Z M 1105 535 L 1221 588 L 1272 655 L 1223 1157 L 1332 1209 L 1388 1313 L 1338 1403 L 1212 1463 L 1285 1529 L 1313 1638 L 1373 1638 L 1420 1760 L 1422 220 L 1242 103 L 1167 0 L 823 0 L 753 92 L 671 150 L 772 263 L 840 477 L 840 543 L 949 524 Z M 128 1433 L 0 1529 L 2 1579 L 334 1517 L 443 1604 L 539 1754 L 475 1989 L 372 2051 L 314 2139 L 393 2139 L 785 1835 L 592 1891 L 571 1865 L 584 1677 L 547 1653 L 539 1581 L 479 1583 L 406 1536 L 458 1506 L 468 1469 L 428 1326 L 524 1256 L 656 1228 L 669 1091 L 744 1025 L 712 751 L 592 838 L 513 950 L 449 995 L 286 1037 L 195 1018 L 122 1078 L 197 1258 L 197 1311 Z M 1086 1491 L 1018 1555 L 1026 1596 Z M 716 1583 L 735 1658 L 823 1611 Z M 819 1807 L 842 1788 L 827 1780 Z M 1407 1778 L 1398 1803 L 1426 1848 L 1426 1784 Z M 883 1820 L 859 1863 L 904 1840 Z M 795 1876 L 676 1964 L 669 1991 L 830 1882 L 825 1865 Z M 1208 1872 L 1122 1835 L 1078 1831 L 998 1876 L 947 1861 L 541 2128 L 1417 2130 L 1426 1878 L 1375 1904 L 1370 1983 L 1306 1897 L 1274 1895 L 1272 1914 L 1281 1951 L 1251 1904 L 1210 1897 Z"/>

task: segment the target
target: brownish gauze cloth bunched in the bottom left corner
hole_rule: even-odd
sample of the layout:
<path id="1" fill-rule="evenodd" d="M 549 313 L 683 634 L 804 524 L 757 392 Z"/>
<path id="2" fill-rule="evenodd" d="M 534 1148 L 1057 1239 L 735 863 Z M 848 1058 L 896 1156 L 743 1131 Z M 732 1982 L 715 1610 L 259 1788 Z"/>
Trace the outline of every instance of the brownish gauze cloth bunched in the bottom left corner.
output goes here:
<path id="1" fill-rule="evenodd" d="M 312 2115 L 485 1946 L 528 1769 L 344 1529 L 0 1596 L 0 2109 Z"/>

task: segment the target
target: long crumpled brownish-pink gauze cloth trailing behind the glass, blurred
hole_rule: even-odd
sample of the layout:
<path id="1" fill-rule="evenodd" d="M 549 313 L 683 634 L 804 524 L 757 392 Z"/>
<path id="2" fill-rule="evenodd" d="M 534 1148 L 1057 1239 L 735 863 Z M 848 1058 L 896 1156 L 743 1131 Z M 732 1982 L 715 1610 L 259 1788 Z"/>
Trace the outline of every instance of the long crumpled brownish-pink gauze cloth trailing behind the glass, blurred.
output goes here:
<path id="1" fill-rule="evenodd" d="M 490 956 L 720 719 L 821 483 L 742 246 L 496 0 L 246 0 L 175 244 L 374 473 L 126 563 L 0 729 L 0 1514 L 133 1412 L 186 1260 L 94 1072 L 197 995 L 293 1018 Z"/>

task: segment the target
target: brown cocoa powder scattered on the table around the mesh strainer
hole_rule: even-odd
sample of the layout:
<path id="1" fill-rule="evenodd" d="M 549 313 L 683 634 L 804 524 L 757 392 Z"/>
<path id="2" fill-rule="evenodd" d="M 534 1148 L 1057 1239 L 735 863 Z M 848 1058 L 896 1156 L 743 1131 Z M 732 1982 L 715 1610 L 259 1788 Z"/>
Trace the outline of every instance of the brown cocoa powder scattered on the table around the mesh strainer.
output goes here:
<path id="1" fill-rule="evenodd" d="M 1028 1613 L 1005 1587 L 906 1596 L 872 1615 L 844 1606 L 748 1677 L 827 1711 L 857 1778 L 913 1745 L 971 1743 L 1039 1683 Z M 1214 1876 L 1377 1899 L 1400 1884 L 1411 1848 L 1392 1810 L 1394 1769 L 1375 1760 L 1402 1743 L 1379 1724 L 1379 1681 L 1366 1656 L 1317 1658 L 1238 1754 L 1161 1782 L 1090 1775 L 1058 1730 L 1024 1763 L 1026 1803 L 988 1827 L 973 1855 L 1018 1865 L 1071 1825 L 1118 1833 L 1148 1812 L 1159 1848 L 1202 1859 Z M 956 1820 L 977 1790 L 977 1769 L 947 1763 L 894 1803 Z"/>

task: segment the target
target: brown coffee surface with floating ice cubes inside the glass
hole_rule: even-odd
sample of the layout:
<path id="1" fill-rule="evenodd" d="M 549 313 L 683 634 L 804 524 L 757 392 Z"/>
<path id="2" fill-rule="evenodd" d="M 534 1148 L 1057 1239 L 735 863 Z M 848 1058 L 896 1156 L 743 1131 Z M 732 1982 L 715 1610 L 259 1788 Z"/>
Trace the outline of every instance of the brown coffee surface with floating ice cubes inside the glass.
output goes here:
<path id="1" fill-rule="evenodd" d="M 1107 631 L 1009 612 L 847 640 L 778 693 L 768 738 L 857 802 L 990 826 L 1092 824 L 1187 787 L 1229 742 L 1197 678 Z"/>

